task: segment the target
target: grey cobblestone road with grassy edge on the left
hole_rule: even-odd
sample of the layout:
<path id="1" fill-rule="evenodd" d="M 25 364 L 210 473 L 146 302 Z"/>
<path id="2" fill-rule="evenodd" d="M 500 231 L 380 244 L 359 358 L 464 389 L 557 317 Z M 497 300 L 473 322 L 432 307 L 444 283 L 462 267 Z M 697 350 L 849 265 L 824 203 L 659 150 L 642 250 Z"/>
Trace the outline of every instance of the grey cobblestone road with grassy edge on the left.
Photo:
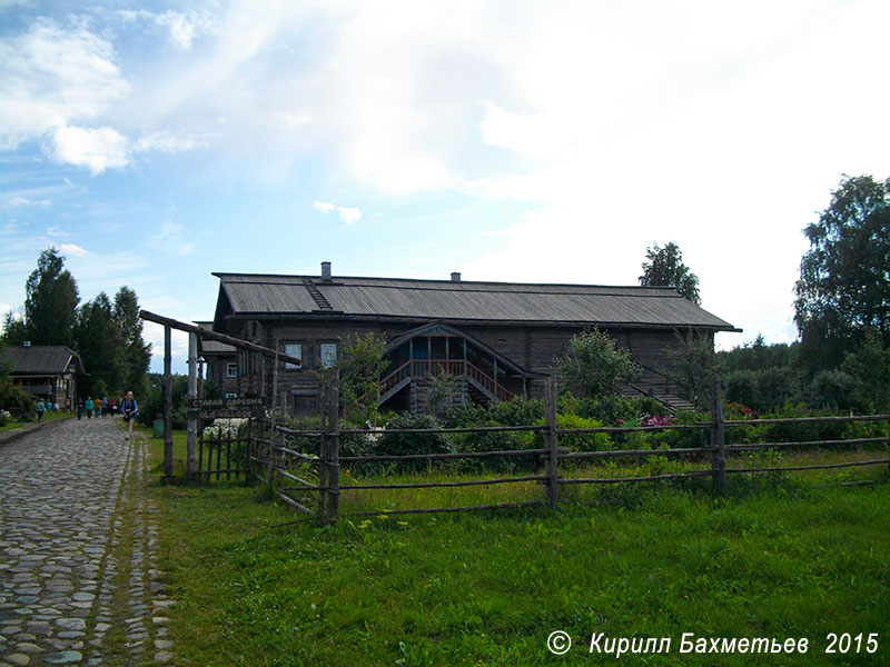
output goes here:
<path id="1" fill-rule="evenodd" d="M 0 444 L 0 667 L 174 661 L 147 479 L 110 417 Z"/>

